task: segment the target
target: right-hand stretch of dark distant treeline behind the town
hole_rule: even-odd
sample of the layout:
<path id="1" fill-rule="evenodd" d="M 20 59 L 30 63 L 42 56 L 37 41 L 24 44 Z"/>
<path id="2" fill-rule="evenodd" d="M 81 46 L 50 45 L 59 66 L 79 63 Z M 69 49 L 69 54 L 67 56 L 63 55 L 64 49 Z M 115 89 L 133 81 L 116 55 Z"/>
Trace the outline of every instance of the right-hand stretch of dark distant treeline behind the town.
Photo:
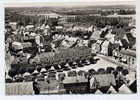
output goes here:
<path id="1" fill-rule="evenodd" d="M 104 27 L 105 25 L 125 27 L 128 26 L 131 18 L 120 17 L 102 17 L 102 16 L 76 16 L 75 18 L 67 18 L 67 22 L 81 22 L 93 24 L 97 27 Z"/>

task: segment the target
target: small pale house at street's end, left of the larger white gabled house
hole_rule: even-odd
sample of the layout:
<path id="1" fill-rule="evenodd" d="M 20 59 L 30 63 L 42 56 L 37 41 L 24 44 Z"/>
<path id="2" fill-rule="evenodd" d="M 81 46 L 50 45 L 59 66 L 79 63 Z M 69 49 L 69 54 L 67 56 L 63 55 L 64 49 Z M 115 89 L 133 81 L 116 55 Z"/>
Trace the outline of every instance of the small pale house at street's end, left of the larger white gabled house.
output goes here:
<path id="1" fill-rule="evenodd" d="M 102 43 L 103 43 L 103 40 L 97 40 L 96 43 L 92 44 L 92 52 L 99 53 L 101 51 Z"/>

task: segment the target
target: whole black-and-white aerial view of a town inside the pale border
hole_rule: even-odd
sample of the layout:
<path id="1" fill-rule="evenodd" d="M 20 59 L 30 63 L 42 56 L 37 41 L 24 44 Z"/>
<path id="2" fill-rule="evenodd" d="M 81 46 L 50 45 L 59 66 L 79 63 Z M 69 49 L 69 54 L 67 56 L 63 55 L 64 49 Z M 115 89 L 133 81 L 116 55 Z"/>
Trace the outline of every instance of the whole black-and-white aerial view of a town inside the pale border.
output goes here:
<path id="1" fill-rule="evenodd" d="M 136 1 L 4 5 L 5 95 L 136 94 Z"/>

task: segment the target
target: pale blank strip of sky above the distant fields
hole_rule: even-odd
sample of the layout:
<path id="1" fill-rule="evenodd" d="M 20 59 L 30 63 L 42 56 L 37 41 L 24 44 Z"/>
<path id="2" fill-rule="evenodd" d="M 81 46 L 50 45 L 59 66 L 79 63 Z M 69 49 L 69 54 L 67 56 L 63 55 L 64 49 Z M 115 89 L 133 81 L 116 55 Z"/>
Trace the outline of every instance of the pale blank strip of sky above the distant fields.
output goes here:
<path id="1" fill-rule="evenodd" d="M 17 2 L 18 1 L 18 2 Z M 45 3 L 44 3 L 45 2 Z M 135 0 L 9 0 L 5 7 L 72 7 L 72 6 L 91 6 L 91 5 L 135 5 Z"/>

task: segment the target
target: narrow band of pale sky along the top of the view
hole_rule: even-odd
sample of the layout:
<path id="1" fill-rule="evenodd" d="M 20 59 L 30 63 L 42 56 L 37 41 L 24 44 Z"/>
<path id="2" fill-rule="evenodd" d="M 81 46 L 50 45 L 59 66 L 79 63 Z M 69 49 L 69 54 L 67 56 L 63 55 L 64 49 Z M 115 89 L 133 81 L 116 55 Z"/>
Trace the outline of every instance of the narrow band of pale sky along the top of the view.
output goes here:
<path id="1" fill-rule="evenodd" d="M 136 1 L 92 1 L 92 2 L 10 2 L 5 7 L 86 7 L 86 6 L 135 6 Z"/>

